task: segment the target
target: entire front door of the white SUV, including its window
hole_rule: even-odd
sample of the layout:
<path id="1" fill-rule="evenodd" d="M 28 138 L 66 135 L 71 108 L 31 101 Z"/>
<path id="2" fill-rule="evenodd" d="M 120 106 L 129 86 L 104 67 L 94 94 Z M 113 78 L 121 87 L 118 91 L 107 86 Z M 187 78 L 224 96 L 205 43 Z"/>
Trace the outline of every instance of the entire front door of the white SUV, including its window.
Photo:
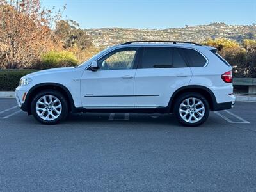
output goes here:
<path id="1" fill-rule="evenodd" d="M 84 70 L 81 98 L 84 108 L 134 107 L 136 48 L 122 48 L 97 60 L 99 70 Z"/>

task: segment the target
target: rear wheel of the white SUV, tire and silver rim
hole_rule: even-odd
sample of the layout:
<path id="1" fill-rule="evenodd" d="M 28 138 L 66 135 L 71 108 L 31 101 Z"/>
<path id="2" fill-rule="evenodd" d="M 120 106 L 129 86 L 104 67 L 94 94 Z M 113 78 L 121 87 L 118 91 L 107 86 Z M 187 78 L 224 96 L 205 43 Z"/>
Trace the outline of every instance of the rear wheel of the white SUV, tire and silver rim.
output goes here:
<path id="1" fill-rule="evenodd" d="M 209 103 L 199 93 L 184 93 L 175 100 L 174 113 L 182 125 L 201 125 L 209 116 Z"/>

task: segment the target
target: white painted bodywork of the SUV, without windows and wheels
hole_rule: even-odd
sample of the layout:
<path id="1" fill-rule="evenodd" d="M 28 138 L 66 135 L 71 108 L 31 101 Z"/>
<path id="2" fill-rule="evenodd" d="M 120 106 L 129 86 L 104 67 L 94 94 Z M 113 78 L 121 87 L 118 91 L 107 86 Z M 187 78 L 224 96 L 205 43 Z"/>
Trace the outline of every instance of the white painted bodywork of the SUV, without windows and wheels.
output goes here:
<path id="1" fill-rule="evenodd" d="M 207 58 L 207 63 L 204 67 L 99 70 L 96 72 L 86 70 L 92 61 L 97 61 L 115 49 L 143 46 L 196 49 Z M 24 104 L 24 100 L 22 100 L 24 93 L 28 93 L 29 90 L 40 84 L 56 83 L 67 88 L 76 108 L 157 108 L 166 107 L 173 93 L 179 88 L 195 85 L 211 90 L 219 104 L 234 102 L 235 100 L 234 95 L 232 95 L 232 83 L 225 83 L 221 79 L 221 74 L 230 70 L 232 70 L 232 67 L 225 65 L 204 46 L 189 44 L 116 45 L 93 56 L 79 67 L 42 70 L 22 77 L 31 78 L 32 83 L 26 86 L 18 86 L 16 98 L 19 106 L 21 106 L 21 104 Z M 132 78 L 122 78 L 123 76 L 131 76 Z M 129 95 L 129 97 L 84 97 L 104 95 Z"/>

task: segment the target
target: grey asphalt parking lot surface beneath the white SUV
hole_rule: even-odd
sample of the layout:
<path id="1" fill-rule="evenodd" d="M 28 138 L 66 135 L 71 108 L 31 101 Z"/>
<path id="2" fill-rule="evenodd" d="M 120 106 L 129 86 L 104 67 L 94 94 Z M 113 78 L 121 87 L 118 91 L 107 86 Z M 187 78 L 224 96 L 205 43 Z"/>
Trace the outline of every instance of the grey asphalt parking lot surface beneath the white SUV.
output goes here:
<path id="1" fill-rule="evenodd" d="M 129 113 L 42 125 L 0 99 L 0 191 L 256 191 L 256 103 L 200 127 Z"/>

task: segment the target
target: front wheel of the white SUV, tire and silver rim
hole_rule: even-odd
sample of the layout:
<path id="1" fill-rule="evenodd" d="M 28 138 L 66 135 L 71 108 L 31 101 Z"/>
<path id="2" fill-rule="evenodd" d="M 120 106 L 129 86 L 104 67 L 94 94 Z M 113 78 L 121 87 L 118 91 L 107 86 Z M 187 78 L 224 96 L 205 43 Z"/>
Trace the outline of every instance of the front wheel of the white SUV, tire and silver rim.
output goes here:
<path id="1" fill-rule="evenodd" d="M 44 90 L 33 98 L 31 113 L 42 124 L 57 124 L 67 117 L 67 100 L 56 90 Z"/>

